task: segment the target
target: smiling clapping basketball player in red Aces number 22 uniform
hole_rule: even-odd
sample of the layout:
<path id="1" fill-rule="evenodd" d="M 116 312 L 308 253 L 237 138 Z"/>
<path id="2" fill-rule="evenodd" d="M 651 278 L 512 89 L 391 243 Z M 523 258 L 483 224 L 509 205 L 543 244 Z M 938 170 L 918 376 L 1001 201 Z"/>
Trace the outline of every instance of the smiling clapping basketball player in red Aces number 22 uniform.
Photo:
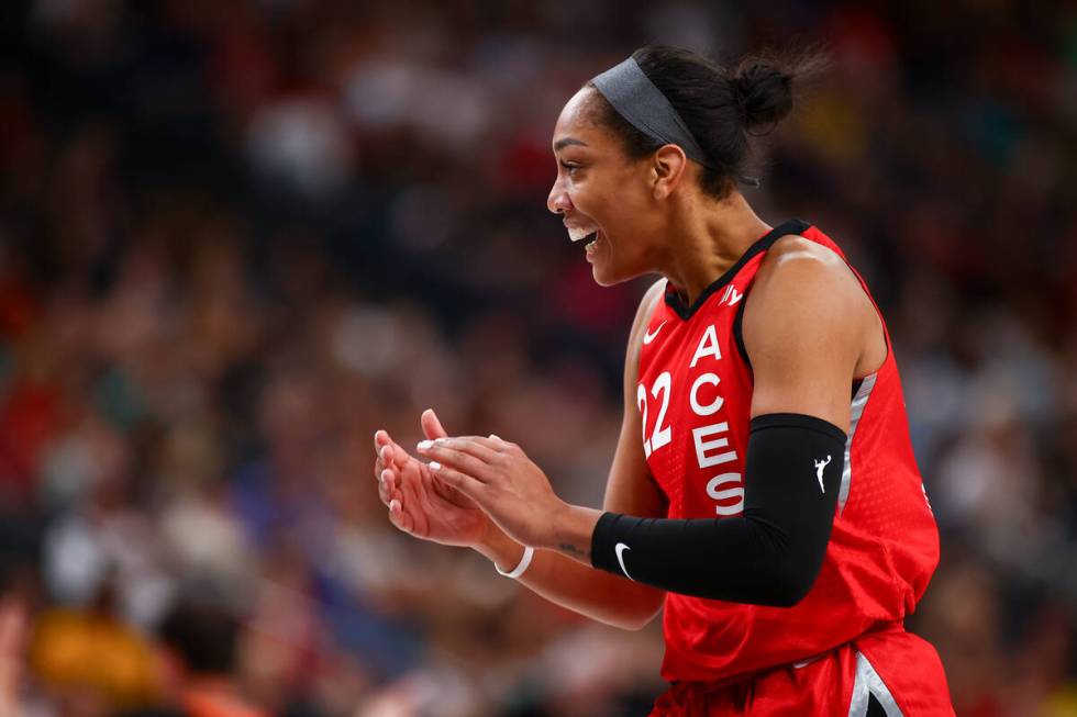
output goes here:
<path id="1" fill-rule="evenodd" d="M 385 432 L 389 518 L 596 619 L 665 608 L 653 715 L 952 715 L 904 630 L 939 559 L 889 336 L 837 245 L 737 190 L 803 63 L 646 47 L 565 105 L 548 206 L 602 285 L 657 272 L 632 327 L 602 511 L 515 444 Z M 526 437 L 521 437 L 525 442 Z"/>

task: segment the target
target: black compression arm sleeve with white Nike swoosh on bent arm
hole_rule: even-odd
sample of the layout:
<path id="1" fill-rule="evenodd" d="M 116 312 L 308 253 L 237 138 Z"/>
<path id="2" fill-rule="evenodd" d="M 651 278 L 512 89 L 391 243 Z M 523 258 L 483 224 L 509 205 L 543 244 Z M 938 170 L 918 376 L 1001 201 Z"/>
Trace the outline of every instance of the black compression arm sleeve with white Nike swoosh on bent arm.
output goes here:
<path id="1" fill-rule="evenodd" d="M 636 518 L 604 513 L 591 536 L 596 568 L 664 590 L 789 607 L 823 564 L 845 464 L 845 434 L 775 413 L 752 421 L 744 514 Z"/>

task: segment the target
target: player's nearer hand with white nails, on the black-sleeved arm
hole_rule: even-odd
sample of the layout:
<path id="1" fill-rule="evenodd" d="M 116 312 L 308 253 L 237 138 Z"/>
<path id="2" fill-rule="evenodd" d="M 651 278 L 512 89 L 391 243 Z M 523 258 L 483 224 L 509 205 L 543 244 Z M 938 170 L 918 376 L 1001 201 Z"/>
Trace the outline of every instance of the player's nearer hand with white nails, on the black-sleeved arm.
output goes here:
<path id="1" fill-rule="evenodd" d="M 475 501 L 512 538 L 534 548 L 555 547 L 557 526 L 570 506 L 519 446 L 492 436 L 463 436 L 424 440 L 418 450 L 436 475 Z"/>

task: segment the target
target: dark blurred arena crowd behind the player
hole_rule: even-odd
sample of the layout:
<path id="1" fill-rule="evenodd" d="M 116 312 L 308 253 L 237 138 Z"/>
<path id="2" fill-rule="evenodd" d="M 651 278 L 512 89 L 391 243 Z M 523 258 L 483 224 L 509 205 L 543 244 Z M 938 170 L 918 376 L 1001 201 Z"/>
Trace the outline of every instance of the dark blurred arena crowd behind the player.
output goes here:
<path id="1" fill-rule="evenodd" d="M 9 0 L 0 557 L 27 714 L 176 705 L 184 636 L 280 715 L 646 709 L 657 624 L 396 533 L 371 435 L 434 406 L 599 503 L 642 285 L 592 284 L 544 206 L 548 142 L 648 41 L 833 53 L 745 191 L 835 236 L 888 316 L 943 537 L 910 626 L 957 714 L 1077 714 L 1073 3 Z"/>

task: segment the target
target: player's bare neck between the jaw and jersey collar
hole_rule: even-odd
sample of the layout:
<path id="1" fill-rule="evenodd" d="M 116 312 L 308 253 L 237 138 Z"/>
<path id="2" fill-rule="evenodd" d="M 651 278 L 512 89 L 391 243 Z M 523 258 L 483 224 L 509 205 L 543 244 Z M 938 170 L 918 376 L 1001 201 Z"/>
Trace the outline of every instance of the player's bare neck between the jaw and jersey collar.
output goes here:
<path id="1" fill-rule="evenodd" d="M 678 214 L 659 270 L 688 305 L 770 231 L 740 192 L 719 202 L 693 199 Z"/>

